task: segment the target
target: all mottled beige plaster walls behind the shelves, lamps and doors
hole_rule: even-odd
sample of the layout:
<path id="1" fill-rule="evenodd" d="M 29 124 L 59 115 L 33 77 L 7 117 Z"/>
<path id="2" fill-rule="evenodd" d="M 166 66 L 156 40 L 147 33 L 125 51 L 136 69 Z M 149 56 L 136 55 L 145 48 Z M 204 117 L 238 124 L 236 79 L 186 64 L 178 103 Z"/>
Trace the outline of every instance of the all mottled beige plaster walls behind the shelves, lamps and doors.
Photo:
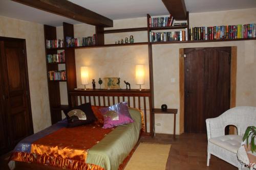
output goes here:
<path id="1" fill-rule="evenodd" d="M 231 10 L 222 12 L 190 14 L 190 26 L 215 26 L 256 23 L 256 9 Z M 0 36 L 25 38 L 27 43 L 27 57 L 29 70 L 29 83 L 34 131 L 48 127 L 50 109 L 47 89 L 44 28 L 38 23 L 22 21 L 0 16 Z M 146 27 L 146 17 L 114 20 L 114 28 Z M 74 26 L 75 37 L 91 36 L 95 27 L 81 24 Z M 115 43 L 118 39 L 134 35 L 135 42 L 147 41 L 146 32 L 106 34 L 105 43 Z M 62 28 L 57 28 L 57 37 L 62 38 Z M 153 45 L 153 67 L 155 106 L 160 107 L 165 103 L 169 108 L 179 110 L 179 48 L 209 47 L 209 46 L 238 46 L 238 71 L 237 71 L 237 106 L 256 106 L 256 40 L 230 41 L 210 43 L 182 43 Z M 146 70 L 145 85 L 149 87 L 148 75 L 148 49 L 147 45 L 118 46 L 87 48 L 76 50 L 77 86 L 80 84 L 80 66 L 90 66 L 90 79 L 101 77 L 119 76 L 135 84 L 135 65 L 144 64 Z M 60 65 L 61 68 L 65 67 Z M 175 82 L 170 82 L 174 78 Z M 91 84 L 88 85 L 91 88 Z M 98 84 L 96 86 L 98 88 Z M 121 85 L 124 87 L 124 84 Z M 67 104 L 66 83 L 60 83 L 61 103 Z M 178 111 L 179 113 L 179 111 Z M 179 115 L 177 116 L 179 117 Z M 157 133 L 173 133 L 173 116 L 156 115 Z M 179 118 L 176 129 L 179 132 Z"/>

